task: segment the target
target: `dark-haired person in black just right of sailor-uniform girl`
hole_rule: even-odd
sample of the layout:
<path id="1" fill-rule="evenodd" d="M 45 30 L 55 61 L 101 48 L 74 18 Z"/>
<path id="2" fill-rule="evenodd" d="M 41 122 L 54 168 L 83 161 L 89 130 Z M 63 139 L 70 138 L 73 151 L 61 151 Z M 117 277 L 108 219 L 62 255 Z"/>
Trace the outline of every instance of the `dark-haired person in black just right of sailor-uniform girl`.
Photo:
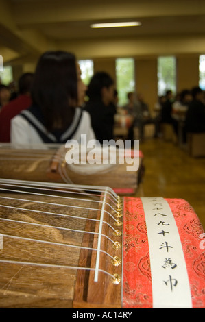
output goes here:
<path id="1" fill-rule="evenodd" d="M 114 80 L 104 71 L 93 75 L 86 92 L 88 101 L 84 106 L 91 115 L 91 125 L 99 143 L 114 139 Z"/>

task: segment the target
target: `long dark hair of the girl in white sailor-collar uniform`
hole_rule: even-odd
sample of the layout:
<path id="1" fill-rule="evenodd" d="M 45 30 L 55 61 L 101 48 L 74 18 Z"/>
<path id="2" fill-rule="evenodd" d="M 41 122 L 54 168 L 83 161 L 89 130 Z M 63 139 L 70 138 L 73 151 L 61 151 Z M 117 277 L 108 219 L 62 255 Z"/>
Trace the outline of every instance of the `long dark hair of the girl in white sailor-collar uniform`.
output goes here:
<path id="1" fill-rule="evenodd" d="M 36 66 L 31 96 L 42 111 L 49 132 L 67 127 L 77 106 L 75 55 L 65 51 L 43 53 Z"/>

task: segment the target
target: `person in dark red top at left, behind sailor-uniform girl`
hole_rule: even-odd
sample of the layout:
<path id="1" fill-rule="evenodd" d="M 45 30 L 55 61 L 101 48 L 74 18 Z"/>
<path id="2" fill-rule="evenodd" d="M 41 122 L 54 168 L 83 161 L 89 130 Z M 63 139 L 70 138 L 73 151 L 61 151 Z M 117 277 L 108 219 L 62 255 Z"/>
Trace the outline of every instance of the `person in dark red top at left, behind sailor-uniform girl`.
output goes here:
<path id="1" fill-rule="evenodd" d="M 22 110 L 29 108 L 32 104 L 30 90 L 32 86 L 33 73 L 24 73 L 19 78 L 19 95 L 3 106 L 0 113 L 0 142 L 10 142 L 11 119 Z"/>

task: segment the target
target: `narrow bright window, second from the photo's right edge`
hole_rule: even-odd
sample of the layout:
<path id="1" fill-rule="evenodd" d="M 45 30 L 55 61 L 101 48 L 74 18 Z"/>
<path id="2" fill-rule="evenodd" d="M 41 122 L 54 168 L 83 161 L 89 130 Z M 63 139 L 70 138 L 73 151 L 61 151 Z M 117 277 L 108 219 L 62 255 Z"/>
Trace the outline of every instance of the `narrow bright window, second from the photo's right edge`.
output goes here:
<path id="1" fill-rule="evenodd" d="M 166 90 L 176 93 L 176 58 L 173 56 L 158 58 L 158 95 Z"/>

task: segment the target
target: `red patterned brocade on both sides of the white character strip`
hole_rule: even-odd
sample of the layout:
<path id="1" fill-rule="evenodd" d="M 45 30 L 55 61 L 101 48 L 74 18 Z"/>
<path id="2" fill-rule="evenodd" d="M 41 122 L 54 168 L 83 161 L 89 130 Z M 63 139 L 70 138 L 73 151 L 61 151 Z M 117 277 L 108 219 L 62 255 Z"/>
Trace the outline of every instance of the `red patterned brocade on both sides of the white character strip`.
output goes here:
<path id="1" fill-rule="evenodd" d="M 183 199 L 165 199 L 176 220 L 193 308 L 205 308 L 205 236 L 193 208 Z M 152 278 L 143 204 L 124 197 L 123 308 L 152 308 Z"/>

